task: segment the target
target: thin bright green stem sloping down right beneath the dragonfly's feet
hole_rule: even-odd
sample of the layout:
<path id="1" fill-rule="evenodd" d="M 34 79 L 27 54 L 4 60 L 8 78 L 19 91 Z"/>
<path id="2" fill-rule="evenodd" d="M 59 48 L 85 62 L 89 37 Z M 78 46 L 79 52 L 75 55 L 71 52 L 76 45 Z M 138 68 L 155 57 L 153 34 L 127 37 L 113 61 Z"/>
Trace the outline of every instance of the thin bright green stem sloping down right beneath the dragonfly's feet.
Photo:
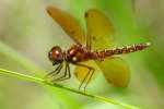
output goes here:
<path id="1" fill-rule="evenodd" d="M 69 92 L 72 92 L 72 93 L 77 93 L 77 94 L 80 94 L 80 95 L 84 95 L 84 96 L 87 96 L 87 97 L 91 97 L 91 98 L 94 98 L 94 99 L 97 99 L 97 100 L 102 100 L 102 101 L 106 101 L 106 102 L 109 102 L 109 104 L 118 105 L 118 106 L 120 106 L 122 108 L 126 108 L 126 109 L 139 109 L 138 107 L 126 105 L 126 104 L 116 101 L 112 98 L 106 98 L 106 97 L 102 97 L 102 96 L 98 96 L 98 95 L 93 95 L 93 94 L 80 92 L 80 90 L 77 90 L 77 89 L 73 89 L 73 88 L 70 88 L 70 87 L 66 87 L 66 86 L 60 85 L 60 84 L 51 84 L 51 83 L 46 82 L 44 78 L 34 77 L 34 76 L 31 76 L 31 75 L 26 75 L 26 74 L 13 72 L 13 71 L 4 70 L 4 69 L 0 69 L 0 73 L 7 74 L 7 75 L 10 75 L 10 76 L 14 76 L 14 77 L 17 77 L 17 78 L 22 78 L 22 80 L 32 81 L 32 82 L 39 83 L 39 84 L 45 84 L 45 85 L 58 87 L 58 88 L 69 90 Z"/>

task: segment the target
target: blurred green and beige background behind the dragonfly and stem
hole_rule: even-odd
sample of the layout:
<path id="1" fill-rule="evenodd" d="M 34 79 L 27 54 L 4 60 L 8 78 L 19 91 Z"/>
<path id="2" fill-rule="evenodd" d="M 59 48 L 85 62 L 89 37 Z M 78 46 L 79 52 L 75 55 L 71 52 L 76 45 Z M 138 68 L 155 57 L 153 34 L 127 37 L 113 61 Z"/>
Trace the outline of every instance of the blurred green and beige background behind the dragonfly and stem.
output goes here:
<path id="1" fill-rule="evenodd" d="M 163 0 L 0 0 L 0 68 L 43 77 L 52 70 L 47 58 L 49 49 L 54 45 L 67 49 L 73 43 L 46 13 L 48 4 L 68 11 L 83 27 L 83 13 L 93 8 L 101 10 L 116 28 L 117 46 L 151 41 L 144 51 L 121 56 L 131 71 L 127 88 L 112 87 L 99 73 L 87 92 L 143 109 L 164 108 Z M 73 76 L 61 84 L 79 86 Z M 0 109 L 119 107 L 0 74 Z"/>

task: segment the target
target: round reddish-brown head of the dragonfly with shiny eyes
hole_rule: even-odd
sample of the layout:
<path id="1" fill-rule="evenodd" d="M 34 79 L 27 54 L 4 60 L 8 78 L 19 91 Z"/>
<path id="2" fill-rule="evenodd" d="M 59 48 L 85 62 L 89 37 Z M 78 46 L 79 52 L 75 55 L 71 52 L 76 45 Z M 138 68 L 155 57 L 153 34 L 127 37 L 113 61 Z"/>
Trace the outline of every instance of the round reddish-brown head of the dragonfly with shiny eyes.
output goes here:
<path id="1" fill-rule="evenodd" d="M 48 58 L 55 65 L 56 63 L 61 63 L 63 61 L 63 52 L 59 46 L 54 46 L 48 52 Z"/>

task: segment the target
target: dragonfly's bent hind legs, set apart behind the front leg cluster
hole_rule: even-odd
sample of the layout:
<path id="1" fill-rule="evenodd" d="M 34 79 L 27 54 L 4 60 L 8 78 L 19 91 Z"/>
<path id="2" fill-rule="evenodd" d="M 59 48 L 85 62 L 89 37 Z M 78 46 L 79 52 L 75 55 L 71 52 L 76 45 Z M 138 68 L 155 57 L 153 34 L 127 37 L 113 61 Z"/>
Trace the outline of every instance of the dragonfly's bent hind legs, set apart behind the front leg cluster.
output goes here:
<path id="1" fill-rule="evenodd" d="M 87 84 L 90 83 L 90 81 L 91 81 L 91 78 L 92 78 L 93 73 L 94 73 L 95 70 L 94 70 L 94 68 L 87 66 L 87 65 L 85 65 L 85 64 L 80 64 L 80 63 L 78 63 L 77 65 L 80 65 L 80 66 L 83 66 L 83 68 L 85 68 L 85 69 L 89 69 L 89 72 L 86 73 L 86 75 L 84 76 L 82 83 L 81 83 L 80 86 L 79 86 L 79 89 L 80 89 L 80 88 L 82 87 L 82 85 L 84 84 L 84 82 L 86 82 L 86 84 L 85 84 L 85 86 L 84 86 L 84 92 L 85 92 L 86 86 L 87 86 Z"/>

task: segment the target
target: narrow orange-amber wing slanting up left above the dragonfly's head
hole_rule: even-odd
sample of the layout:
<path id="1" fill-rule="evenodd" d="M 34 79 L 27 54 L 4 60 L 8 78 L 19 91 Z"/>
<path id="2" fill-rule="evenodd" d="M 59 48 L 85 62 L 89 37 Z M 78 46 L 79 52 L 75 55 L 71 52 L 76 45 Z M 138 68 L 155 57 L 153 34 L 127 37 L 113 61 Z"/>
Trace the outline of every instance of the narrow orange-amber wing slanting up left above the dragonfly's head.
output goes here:
<path id="1" fill-rule="evenodd" d="M 69 13 L 55 7 L 47 7 L 47 13 L 62 27 L 62 29 L 77 43 L 85 43 L 84 32 L 78 21 Z"/>

